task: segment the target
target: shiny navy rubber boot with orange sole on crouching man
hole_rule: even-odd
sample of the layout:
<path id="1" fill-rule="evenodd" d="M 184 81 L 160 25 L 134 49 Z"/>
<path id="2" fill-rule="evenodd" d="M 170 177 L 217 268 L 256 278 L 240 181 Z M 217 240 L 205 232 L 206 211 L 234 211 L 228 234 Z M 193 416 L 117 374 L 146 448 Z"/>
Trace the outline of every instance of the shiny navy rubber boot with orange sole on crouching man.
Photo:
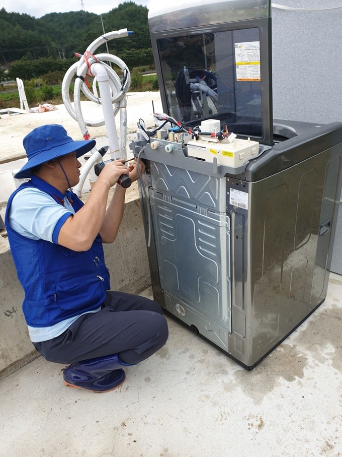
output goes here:
<path id="1" fill-rule="evenodd" d="M 121 362 L 117 354 L 75 362 L 64 369 L 63 383 L 98 393 L 109 392 L 124 383 L 122 366 L 131 365 Z"/>

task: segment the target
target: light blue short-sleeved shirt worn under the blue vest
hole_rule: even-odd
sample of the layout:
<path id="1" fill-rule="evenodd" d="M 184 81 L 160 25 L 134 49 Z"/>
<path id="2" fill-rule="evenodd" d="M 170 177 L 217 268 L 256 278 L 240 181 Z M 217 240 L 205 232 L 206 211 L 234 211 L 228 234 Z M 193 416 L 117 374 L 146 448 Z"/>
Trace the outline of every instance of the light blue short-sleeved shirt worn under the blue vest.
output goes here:
<path id="1" fill-rule="evenodd" d="M 67 197 L 64 206 L 58 204 L 50 195 L 34 187 L 20 190 L 14 197 L 9 213 L 13 230 L 30 239 L 43 239 L 57 244 L 60 228 L 68 217 L 75 214 Z M 93 311 L 98 312 L 101 307 Z M 52 340 L 67 330 L 79 316 L 62 320 L 51 327 L 30 327 L 29 335 L 33 343 Z"/>

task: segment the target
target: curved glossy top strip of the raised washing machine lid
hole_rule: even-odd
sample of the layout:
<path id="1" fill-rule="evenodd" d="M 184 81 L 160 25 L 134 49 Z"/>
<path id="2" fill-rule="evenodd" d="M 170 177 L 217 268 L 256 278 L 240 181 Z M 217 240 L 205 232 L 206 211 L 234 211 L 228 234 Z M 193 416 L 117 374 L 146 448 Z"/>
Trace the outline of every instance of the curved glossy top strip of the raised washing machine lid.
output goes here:
<path id="1" fill-rule="evenodd" d="M 157 0 L 149 4 L 148 23 L 152 33 L 270 16 L 270 0 Z"/>

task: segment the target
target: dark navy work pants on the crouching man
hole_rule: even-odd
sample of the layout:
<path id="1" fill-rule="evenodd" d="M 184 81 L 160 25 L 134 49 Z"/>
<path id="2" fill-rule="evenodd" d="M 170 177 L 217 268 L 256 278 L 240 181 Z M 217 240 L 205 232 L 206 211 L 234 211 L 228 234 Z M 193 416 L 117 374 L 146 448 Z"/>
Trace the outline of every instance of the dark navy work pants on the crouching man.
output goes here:
<path id="1" fill-rule="evenodd" d="M 58 337 L 34 346 L 50 362 L 69 364 L 119 354 L 131 365 L 154 354 L 167 337 L 166 319 L 156 302 L 108 291 L 100 311 L 83 314 Z"/>

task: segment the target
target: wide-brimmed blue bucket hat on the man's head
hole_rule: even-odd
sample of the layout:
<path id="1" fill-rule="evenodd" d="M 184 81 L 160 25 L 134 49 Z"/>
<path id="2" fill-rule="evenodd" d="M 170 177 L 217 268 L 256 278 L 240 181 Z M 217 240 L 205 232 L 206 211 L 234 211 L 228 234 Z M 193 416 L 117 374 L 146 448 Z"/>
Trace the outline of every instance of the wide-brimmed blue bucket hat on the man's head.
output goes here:
<path id="1" fill-rule="evenodd" d="M 74 141 L 67 134 L 65 128 L 58 124 L 41 125 L 30 132 L 23 140 L 23 145 L 29 159 L 15 178 L 30 178 L 31 169 L 52 159 L 76 153 L 80 157 L 91 151 L 95 140 Z"/>

